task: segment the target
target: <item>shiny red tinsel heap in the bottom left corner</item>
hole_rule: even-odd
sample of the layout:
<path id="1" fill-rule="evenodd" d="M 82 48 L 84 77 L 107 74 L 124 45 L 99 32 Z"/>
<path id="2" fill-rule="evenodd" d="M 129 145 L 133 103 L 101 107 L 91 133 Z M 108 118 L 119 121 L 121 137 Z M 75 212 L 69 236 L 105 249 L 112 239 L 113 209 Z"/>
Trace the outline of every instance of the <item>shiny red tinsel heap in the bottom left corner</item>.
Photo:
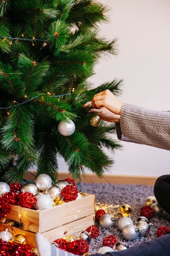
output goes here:
<path id="1" fill-rule="evenodd" d="M 0 256 L 36 256 L 29 245 L 4 242 L 0 239 Z"/>

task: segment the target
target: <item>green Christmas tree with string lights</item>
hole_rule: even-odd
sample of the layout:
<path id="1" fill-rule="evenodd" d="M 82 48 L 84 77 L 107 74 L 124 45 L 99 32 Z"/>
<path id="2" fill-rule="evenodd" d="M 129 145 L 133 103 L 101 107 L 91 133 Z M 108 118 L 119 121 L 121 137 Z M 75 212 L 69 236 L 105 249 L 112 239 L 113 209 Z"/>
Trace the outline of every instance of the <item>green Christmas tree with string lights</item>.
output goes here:
<path id="1" fill-rule="evenodd" d="M 62 155 L 72 177 L 84 168 L 99 177 L 113 164 L 103 146 L 114 125 L 93 127 L 84 104 L 97 92 L 119 92 L 115 79 L 93 89 L 88 77 L 102 54 L 116 54 L 116 40 L 99 36 L 107 7 L 92 0 L 2 0 L 0 3 L 0 171 L 1 181 L 22 182 L 38 174 L 57 177 Z M 60 121 L 75 131 L 63 136 Z"/>

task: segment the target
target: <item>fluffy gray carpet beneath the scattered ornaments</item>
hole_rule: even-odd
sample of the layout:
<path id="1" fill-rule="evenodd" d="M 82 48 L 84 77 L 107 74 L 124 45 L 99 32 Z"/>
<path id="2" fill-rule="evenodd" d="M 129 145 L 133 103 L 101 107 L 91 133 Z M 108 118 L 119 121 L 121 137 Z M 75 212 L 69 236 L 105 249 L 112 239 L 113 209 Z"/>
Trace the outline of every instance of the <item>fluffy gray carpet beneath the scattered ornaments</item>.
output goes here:
<path id="1" fill-rule="evenodd" d="M 132 207 L 131 216 L 133 222 L 140 216 L 140 209 L 145 205 L 146 198 L 154 195 L 153 186 L 146 185 L 79 183 L 76 186 L 78 190 L 96 195 L 96 202 L 113 205 L 130 204 Z M 119 218 L 116 220 L 116 223 L 118 223 Z M 161 213 L 150 219 L 150 222 L 152 222 L 157 231 L 160 226 L 170 227 L 170 216 L 162 210 Z M 95 226 L 99 227 L 99 224 L 95 223 Z M 135 241 L 125 241 L 118 227 L 110 229 L 100 228 L 99 236 L 93 238 L 91 241 L 89 252 L 93 254 L 97 253 L 98 249 L 103 246 L 103 238 L 109 235 L 114 235 L 118 241 L 124 241 L 129 246 L 137 245 L 138 243 L 157 237 L 152 227 L 150 228 L 150 234 L 146 238 L 142 237 L 140 240 L 137 239 Z"/>

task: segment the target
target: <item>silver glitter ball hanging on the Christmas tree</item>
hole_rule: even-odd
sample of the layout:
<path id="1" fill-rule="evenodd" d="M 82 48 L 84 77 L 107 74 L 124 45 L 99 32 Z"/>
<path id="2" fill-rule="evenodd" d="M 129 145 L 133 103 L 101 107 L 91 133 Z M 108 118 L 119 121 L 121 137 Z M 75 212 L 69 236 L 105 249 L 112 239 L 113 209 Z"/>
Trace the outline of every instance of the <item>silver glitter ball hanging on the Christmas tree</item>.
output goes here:
<path id="1" fill-rule="evenodd" d="M 68 119 L 67 121 L 61 121 L 58 124 L 58 131 L 63 136 L 70 136 L 75 131 L 75 124 L 72 120 Z"/>

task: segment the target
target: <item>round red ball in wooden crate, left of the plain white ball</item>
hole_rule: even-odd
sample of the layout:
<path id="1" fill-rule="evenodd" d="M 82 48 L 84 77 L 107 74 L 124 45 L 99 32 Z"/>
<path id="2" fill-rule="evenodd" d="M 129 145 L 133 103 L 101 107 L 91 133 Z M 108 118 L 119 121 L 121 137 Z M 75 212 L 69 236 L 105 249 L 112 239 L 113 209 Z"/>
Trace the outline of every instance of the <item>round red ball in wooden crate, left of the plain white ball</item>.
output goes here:
<path id="1" fill-rule="evenodd" d="M 36 201 L 37 201 L 37 199 L 30 192 L 24 192 L 24 193 L 20 194 L 19 204 L 22 207 L 32 208 Z"/>

